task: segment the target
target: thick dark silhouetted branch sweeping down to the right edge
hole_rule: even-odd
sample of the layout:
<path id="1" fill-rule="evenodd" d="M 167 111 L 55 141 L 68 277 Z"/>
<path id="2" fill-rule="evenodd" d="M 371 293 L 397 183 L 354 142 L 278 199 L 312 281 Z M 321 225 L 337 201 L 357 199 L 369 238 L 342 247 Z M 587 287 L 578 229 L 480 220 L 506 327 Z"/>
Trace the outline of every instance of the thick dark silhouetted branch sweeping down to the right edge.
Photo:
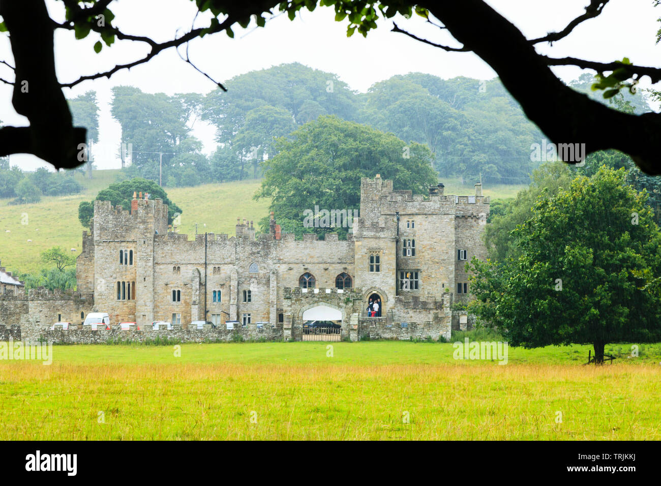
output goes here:
<path id="1" fill-rule="evenodd" d="M 459 42 L 498 73 L 526 116 L 553 142 L 585 143 L 586 153 L 617 149 L 646 173 L 661 174 L 661 115 L 619 112 L 564 85 L 524 34 L 482 0 L 425 3 Z"/>

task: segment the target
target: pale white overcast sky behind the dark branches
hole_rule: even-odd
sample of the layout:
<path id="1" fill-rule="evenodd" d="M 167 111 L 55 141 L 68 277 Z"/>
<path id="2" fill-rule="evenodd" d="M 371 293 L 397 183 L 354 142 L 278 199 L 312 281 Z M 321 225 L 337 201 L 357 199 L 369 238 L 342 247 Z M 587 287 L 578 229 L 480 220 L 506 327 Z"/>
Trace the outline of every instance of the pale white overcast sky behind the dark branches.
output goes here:
<path id="1" fill-rule="evenodd" d="M 524 34 L 542 36 L 563 28 L 569 20 L 584 11 L 588 0 L 489 0 L 488 3 L 514 22 Z M 59 1 L 47 1 L 52 17 L 63 20 Z M 147 35 L 163 41 L 190 29 L 195 17 L 194 2 L 189 0 L 118 0 L 111 4 L 116 15 L 114 24 L 125 33 Z M 652 0 L 611 0 L 602 15 L 588 20 L 553 47 L 539 45 L 538 52 L 554 57 L 574 56 L 595 61 L 613 61 L 629 57 L 633 63 L 658 65 L 661 46 L 655 35 L 660 27 L 656 19 L 661 8 L 654 9 Z M 196 26 L 208 24 L 208 16 L 199 15 Z M 457 46 L 447 33 L 425 24 L 414 15 L 412 19 L 394 19 L 401 28 L 434 42 Z M 430 73 L 444 79 L 467 76 L 491 79 L 494 71 L 471 53 L 447 53 L 410 39 L 404 34 L 390 32 L 392 20 L 381 20 L 379 27 L 367 38 L 360 34 L 346 37 L 346 19 L 334 21 L 334 11 L 317 7 L 314 12 L 302 11 L 293 22 L 286 15 L 268 20 L 265 28 L 246 30 L 234 28 L 230 39 L 223 32 L 190 42 L 190 59 L 218 81 L 255 69 L 281 63 L 300 62 L 315 69 L 336 73 L 352 89 L 366 91 L 377 81 L 412 71 Z M 81 75 L 109 69 L 117 63 L 127 63 L 144 56 L 147 49 L 141 43 L 118 41 L 100 54 L 93 44 L 98 35 L 92 32 L 84 40 L 75 40 L 73 32 L 56 32 L 56 65 L 61 82 L 69 82 Z M 183 52 L 183 48 L 180 48 Z M 0 39 L 0 60 L 13 61 L 9 39 Z M 575 79 L 582 72 L 572 67 L 558 67 L 554 71 L 565 81 Z M 590 71 L 588 71 L 590 72 Z M 521 75 L 525 76 L 525 66 Z M 13 79 L 13 73 L 0 65 L 0 76 Z M 529 80 L 535 89 L 535 79 Z M 121 129 L 110 116 L 110 89 L 116 85 L 133 85 L 148 93 L 208 93 L 214 83 L 180 60 L 175 50 L 162 52 L 149 63 L 130 71 L 119 71 L 108 79 L 85 81 L 74 89 L 65 89 L 67 98 L 89 90 L 97 91 L 100 104 L 100 140 L 95 148 L 96 164 L 100 169 L 120 167 L 116 157 Z M 231 85 L 226 86 L 231 89 Z M 649 87 L 649 78 L 641 80 L 641 87 Z M 0 85 L 0 120 L 4 124 L 22 126 L 26 118 L 11 106 L 11 87 Z M 540 100 L 540 102 L 543 102 Z M 214 129 L 199 120 L 193 135 L 204 143 L 204 152 L 215 149 Z M 135 147 L 134 147 L 135 148 Z M 12 155 L 11 164 L 26 170 L 49 167 L 32 155 Z"/>

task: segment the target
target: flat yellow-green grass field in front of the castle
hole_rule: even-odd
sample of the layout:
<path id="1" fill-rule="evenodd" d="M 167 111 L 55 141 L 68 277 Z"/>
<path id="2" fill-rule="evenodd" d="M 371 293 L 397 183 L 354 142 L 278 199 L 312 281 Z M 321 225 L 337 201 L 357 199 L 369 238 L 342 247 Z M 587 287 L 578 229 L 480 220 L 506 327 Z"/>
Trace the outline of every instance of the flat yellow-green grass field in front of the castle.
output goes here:
<path id="1" fill-rule="evenodd" d="M 0 440 L 660 440 L 661 345 L 630 349 L 596 367 L 588 346 L 505 366 L 401 341 L 54 346 L 50 366 L 0 361 Z"/>

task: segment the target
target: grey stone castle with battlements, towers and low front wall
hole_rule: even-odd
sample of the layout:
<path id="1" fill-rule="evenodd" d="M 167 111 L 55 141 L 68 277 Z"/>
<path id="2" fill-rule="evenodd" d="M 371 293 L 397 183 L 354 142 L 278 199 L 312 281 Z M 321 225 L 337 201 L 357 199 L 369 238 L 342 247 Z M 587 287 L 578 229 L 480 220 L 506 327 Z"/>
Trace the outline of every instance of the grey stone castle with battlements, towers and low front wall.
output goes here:
<path id="1" fill-rule="evenodd" d="M 159 199 L 139 195 L 130 209 L 95 201 L 92 231 L 83 233 L 77 258 L 77 292 L 0 296 L 0 325 L 58 342 L 127 333 L 146 339 L 153 321 L 173 323 L 164 332 L 184 341 L 236 333 L 299 340 L 314 315 L 341 319 L 342 338 L 352 341 L 449 339 L 451 329 L 470 325 L 452 304 L 469 298 L 467 261 L 486 257 L 481 235 L 488 214 L 481 184 L 474 196 L 446 195 L 443 184 L 422 196 L 395 190 L 377 175 L 361 181 L 360 217 L 346 240 L 336 234 L 297 240 L 280 231 L 271 213 L 269 233 L 256 235 L 244 220 L 235 237 L 204 233 L 190 241 L 169 231 Z M 380 299 L 380 317 L 367 316 L 370 298 Z M 56 321 L 79 324 L 91 311 L 107 312 L 114 324 L 136 322 L 141 331 L 46 329 Z M 198 320 L 216 327 L 188 329 Z"/>

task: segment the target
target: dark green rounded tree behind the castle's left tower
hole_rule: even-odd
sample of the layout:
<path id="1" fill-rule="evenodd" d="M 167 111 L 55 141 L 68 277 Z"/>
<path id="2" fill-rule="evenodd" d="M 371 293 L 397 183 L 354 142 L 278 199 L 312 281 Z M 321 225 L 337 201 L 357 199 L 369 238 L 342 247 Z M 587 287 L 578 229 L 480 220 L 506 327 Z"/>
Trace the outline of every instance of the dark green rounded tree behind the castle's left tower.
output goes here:
<path id="1" fill-rule="evenodd" d="M 112 206 L 121 205 L 123 208 L 129 209 L 131 207 L 131 200 L 133 199 L 134 192 L 142 192 L 149 194 L 150 199 L 161 199 L 163 204 L 168 207 L 168 223 L 172 223 L 175 214 L 181 214 L 182 210 L 173 203 L 167 196 L 167 192 L 159 186 L 156 182 L 147 181 L 136 177 L 128 181 L 114 182 L 107 188 L 100 190 L 95 200 L 110 201 Z M 83 201 L 78 206 L 78 219 L 81 225 L 91 229 L 91 219 L 94 217 L 94 201 Z"/>

